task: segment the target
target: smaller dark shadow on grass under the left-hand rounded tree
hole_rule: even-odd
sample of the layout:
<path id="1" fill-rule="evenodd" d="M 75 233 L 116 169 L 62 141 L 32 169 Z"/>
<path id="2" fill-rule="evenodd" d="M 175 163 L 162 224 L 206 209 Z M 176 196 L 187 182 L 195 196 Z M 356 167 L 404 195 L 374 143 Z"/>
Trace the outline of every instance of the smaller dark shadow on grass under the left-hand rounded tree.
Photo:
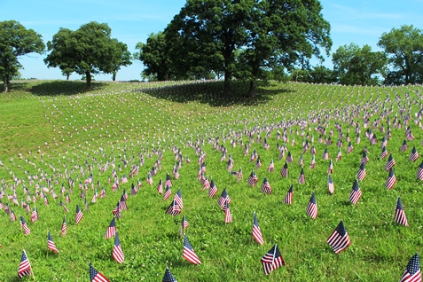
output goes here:
<path id="1" fill-rule="evenodd" d="M 85 82 L 46 81 L 32 86 L 28 89 L 28 91 L 36 96 L 59 96 L 82 94 L 92 90 L 101 90 L 105 87 L 105 82 L 91 82 L 91 87 L 89 90 L 87 90 Z"/>

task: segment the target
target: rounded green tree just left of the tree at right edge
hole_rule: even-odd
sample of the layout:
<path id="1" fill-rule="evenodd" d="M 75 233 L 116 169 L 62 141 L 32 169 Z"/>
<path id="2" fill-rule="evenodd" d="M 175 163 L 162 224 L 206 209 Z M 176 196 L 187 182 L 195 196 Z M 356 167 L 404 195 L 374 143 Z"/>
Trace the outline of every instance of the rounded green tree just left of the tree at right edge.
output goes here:
<path id="1" fill-rule="evenodd" d="M 385 75 L 387 57 L 383 52 L 372 51 L 354 43 L 338 48 L 332 55 L 333 72 L 344 85 L 379 85 Z"/>

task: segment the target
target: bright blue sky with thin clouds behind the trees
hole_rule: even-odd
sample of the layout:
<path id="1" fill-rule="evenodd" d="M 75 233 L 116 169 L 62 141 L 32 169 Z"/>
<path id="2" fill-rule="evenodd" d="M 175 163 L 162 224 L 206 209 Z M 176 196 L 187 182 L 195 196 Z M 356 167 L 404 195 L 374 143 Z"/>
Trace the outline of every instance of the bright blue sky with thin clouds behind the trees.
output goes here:
<path id="1" fill-rule="evenodd" d="M 163 30 L 184 4 L 185 0 L 1 0 L 0 20 L 20 21 L 42 35 L 44 43 L 51 40 L 59 27 L 75 30 L 92 20 L 106 22 L 112 28 L 112 37 L 126 43 L 133 52 L 138 42 L 145 43 L 149 34 Z M 412 24 L 423 29 L 423 0 L 323 0 L 321 4 L 325 20 L 331 23 L 332 51 L 349 43 L 368 44 L 373 51 L 379 51 L 380 35 L 393 27 Z M 37 54 L 22 57 L 22 77 L 65 79 L 59 68 L 47 68 L 44 58 L 45 55 Z M 324 65 L 332 68 L 331 58 Z M 130 67 L 121 69 L 117 80 L 141 79 L 142 69 L 142 63 L 134 61 Z M 80 77 L 71 75 L 71 79 Z M 111 74 L 98 74 L 95 78 L 111 80 Z"/>

